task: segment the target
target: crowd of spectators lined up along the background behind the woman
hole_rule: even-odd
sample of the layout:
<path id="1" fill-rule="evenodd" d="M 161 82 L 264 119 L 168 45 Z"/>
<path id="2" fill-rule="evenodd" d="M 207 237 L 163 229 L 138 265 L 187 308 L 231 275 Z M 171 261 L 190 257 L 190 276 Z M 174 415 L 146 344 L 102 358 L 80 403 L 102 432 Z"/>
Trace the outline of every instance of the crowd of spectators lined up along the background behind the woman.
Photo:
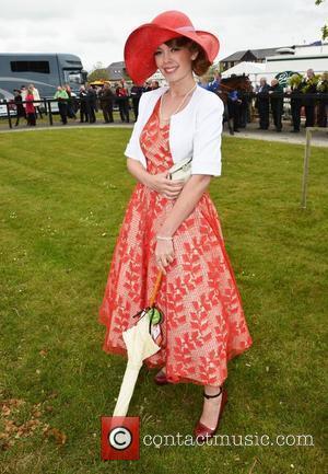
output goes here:
<path id="1" fill-rule="evenodd" d="M 199 85 L 214 93 L 221 91 L 221 73 L 215 72 L 212 81 L 201 78 Z M 141 95 L 153 89 L 160 88 L 159 81 L 147 81 L 142 86 L 132 84 L 128 86 L 122 79 L 113 86 L 104 83 L 102 86 L 81 85 L 77 94 L 72 93 L 69 84 L 58 86 L 54 99 L 58 103 L 58 111 L 62 125 L 68 118 L 80 120 L 80 123 L 94 124 L 96 113 L 102 111 L 105 124 L 114 123 L 114 109 L 117 108 L 121 123 L 138 118 L 139 101 Z M 223 86 L 222 86 L 222 90 Z M 302 107 L 305 114 L 305 127 L 327 127 L 327 95 L 317 100 L 317 94 L 328 94 L 328 72 L 318 76 L 313 69 L 308 69 L 306 77 L 294 73 L 289 79 L 289 85 L 283 88 L 278 79 L 272 79 L 270 85 L 263 77 L 259 84 L 253 88 L 251 93 L 242 90 L 229 90 L 225 101 L 224 122 L 232 123 L 231 132 L 245 128 L 247 123 L 253 122 L 253 116 L 258 115 L 259 129 L 268 130 L 270 119 L 277 131 L 282 130 L 282 118 L 284 114 L 285 97 L 290 97 L 289 107 L 292 122 L 292 132 L 298 132 L 301 128 Z M 23 117 L 28 126 L 35 126 L 39 116 L 43 118 L 42 102 L 38 90 L 34 84 L 21 90 L 14 90 L 14 102 L 16 105 L 16 122 L 20 124 Z"/>

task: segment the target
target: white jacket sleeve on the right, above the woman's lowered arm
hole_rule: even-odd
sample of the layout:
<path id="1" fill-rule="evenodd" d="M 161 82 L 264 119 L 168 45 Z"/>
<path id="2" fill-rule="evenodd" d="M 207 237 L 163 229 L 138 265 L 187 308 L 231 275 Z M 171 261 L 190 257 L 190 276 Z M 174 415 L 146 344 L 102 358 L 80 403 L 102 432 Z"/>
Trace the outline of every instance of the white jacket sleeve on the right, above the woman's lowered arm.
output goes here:
<path id="1" fill-rule="evenodd" d="M 221 134 L 224 105 L 211 92 L 197 113 L 191 174 L 221 175 Z"/>

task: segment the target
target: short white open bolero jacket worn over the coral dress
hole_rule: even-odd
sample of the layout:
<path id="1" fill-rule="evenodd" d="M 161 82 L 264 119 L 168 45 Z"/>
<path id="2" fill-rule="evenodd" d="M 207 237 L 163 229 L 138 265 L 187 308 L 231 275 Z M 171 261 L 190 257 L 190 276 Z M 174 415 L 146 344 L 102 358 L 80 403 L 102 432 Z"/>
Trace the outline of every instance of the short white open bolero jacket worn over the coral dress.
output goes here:
<path id="1" fill-rule="evenodd" d="M 140 161 L 145 169 L 140 135 L 157 100 L 167 89 L 162 86 L 141 95 L 138 120 L 125 150 L 126 157 Z M 171 117 L 168 140 L 174 163 L 192 157 L 191 174 L 221 175 L 223 108 L 223 102 L 216 94 L 200 85 L 196 88 L 185 108 Z"/>

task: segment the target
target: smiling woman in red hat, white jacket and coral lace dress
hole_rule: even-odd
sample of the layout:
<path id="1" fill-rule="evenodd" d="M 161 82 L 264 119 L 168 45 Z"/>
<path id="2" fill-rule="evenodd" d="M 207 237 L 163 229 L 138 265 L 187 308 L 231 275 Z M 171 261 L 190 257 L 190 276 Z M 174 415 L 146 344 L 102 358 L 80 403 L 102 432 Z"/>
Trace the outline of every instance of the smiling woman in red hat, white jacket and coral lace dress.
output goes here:
<path id="1" fill-rule="evenodd" d="M 184 36 L 181 35 L 184 33 Z M 127 355 L 122 331 L 150 299 L 159 269 L 164 348 L 145 359 L 163 367 L 155 382 L 203 386 L 197 439 L 212 437 L 226 403 L 227 361 L 251 344 L 216 209 L 207 187 L 221 175 L 223 103 L 198 86 L 219 51 L 211 33 L 195 31 L 188 16 L 169 11 L 137 28 L 125 47 L 126 67 L 142 84 L 160 69 L 168 86 L 144 92 L 125 154 L 138 180 L 113 255 L 99 322 L 103 349 Z M 168 169 L 192 155 L 186 183 Z"/>

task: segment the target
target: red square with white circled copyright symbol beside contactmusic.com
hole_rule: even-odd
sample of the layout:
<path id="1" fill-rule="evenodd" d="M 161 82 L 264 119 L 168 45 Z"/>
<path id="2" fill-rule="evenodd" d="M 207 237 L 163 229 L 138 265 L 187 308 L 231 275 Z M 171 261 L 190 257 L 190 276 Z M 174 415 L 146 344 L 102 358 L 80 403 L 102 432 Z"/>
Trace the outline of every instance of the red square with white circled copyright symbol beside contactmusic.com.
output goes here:
<path id="1" fill-rule="evenodd" d="M 140 417 L 102 416 L 102 460 L 140 459 Z"/>

